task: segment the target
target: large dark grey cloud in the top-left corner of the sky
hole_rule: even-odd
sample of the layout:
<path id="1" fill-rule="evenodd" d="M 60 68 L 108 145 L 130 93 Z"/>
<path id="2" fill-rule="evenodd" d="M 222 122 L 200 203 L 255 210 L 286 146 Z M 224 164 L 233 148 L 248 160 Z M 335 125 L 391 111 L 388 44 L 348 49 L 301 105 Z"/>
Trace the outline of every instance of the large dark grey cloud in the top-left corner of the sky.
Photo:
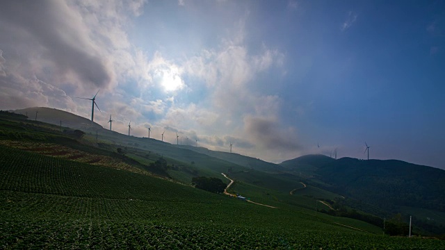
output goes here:
<path id="1" fill-rule="evenodd" d="M 99 44 L 63 1 L 1 1 L 0 31 L 0 44 L 34 51 L 51 66 L 47 72 L 72 74 L 81 83 L 102 88 L 111 81 L 110 70 L 95 49 Z"/>

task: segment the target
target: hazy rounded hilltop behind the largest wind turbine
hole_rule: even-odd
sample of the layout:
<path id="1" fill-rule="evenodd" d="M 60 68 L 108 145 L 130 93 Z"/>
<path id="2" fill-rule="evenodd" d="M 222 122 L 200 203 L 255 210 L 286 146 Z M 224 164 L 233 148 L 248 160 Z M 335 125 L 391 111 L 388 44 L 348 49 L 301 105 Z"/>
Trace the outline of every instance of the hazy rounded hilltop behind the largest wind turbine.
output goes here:
<path id="1" fill-rule="evenodd" d="M 62 121 L 62 126 L 70 128 L 90 128 L 91 120 L 85 117 L 80 117 L 79 115 L 74 115 L 72 113 L 58 110 L 56 108 L 45 108 L 45 107 L 33 107 L 24 108 L 19 110 L 12 110 L 14 113 L 26 115 L 28 114 L 29 119 L 35 119 L 35 112 L 37 113 L 37 120 L 40 122 L 47 122 L 49 124 L 60 125 Z M 102 129 L 103 127 L 97 123 L 93 123 L 92 127 Z"/>

